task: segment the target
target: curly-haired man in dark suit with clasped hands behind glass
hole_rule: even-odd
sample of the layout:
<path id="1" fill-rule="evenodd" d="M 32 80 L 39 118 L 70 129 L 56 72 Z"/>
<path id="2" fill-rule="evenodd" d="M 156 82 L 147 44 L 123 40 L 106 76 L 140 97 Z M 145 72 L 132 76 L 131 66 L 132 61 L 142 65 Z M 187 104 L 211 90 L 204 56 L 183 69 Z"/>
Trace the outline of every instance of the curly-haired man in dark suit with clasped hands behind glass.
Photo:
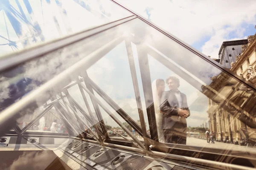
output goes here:
<path id="1" fill-rule="evenodd" d="M 177 77 L 168 77 L 166 83 L 170 91 L 164 91 L 160 101 L 165 142 L 186 144 L 186 118 L 190 116 L 186 95 L 178 90 Z"/>

